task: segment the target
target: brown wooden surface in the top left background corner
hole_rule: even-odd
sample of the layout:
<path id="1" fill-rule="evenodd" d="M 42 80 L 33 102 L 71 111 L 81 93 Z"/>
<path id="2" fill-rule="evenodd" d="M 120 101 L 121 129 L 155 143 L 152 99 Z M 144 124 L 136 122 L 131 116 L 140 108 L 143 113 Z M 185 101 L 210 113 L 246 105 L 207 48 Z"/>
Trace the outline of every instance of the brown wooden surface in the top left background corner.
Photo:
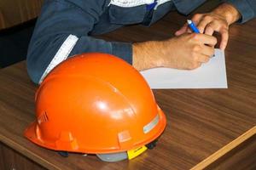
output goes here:
<path id="1" fill-rule="evenodd" d="M 0 0 L 0 30 L 36 18 L 43 0 Z"/>

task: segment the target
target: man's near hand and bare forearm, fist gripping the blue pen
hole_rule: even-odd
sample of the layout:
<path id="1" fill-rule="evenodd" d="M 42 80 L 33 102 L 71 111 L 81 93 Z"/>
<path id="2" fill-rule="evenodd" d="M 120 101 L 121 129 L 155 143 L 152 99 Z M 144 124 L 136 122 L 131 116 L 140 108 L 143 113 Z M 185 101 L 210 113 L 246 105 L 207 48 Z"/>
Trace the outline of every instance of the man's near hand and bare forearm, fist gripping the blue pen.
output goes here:
<path id="1" fill-rule="evenodd" d="M 192 70 L 210 59 L 216 43 L 216 37 L 196 33 L 166 41 L 134 43 L 133 66 L 138 71 L 154 67 Z"/>

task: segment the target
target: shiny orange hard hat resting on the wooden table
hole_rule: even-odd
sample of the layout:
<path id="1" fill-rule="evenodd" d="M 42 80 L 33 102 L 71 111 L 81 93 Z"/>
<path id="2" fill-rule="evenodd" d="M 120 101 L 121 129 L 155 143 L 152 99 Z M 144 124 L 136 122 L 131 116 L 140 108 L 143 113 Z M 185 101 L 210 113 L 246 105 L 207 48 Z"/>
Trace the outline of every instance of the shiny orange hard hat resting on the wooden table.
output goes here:
<path id="1" fill-rule="evenodd" d="M 143 76 L 110 54 L 63 61 L 44 78 L 35 100 L 37 119 L 25 136 L 51 150 L 123 153 L 151 143 L 166 127 Z"/>

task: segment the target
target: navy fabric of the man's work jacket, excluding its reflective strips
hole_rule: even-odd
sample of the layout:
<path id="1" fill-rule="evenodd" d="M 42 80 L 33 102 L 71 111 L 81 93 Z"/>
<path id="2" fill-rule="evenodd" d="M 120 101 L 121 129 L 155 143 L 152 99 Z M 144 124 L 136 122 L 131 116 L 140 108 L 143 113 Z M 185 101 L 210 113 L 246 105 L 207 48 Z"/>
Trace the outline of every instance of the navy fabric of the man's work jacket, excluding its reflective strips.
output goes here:
<path id="1" fill-rule="evenodd" d="M 240 11 L 240 22 L 255 16 L 256 0 L 229 0 Z M 148 5 L 123 8 L 110 0 L 45 0 L 27 53 L 27 71 L 33 82 L 40 77 L 69 35 L 79 37 L 68 56 L 86 52 L 113 54 L 132 64 L 131 42 L 107 42 L 90 37 L 119 27 L 142 24 L 150 26 L 171 10 L 189 14 L 205 0 L 172 0 L 156 10 Z M 148 11 L 150 10 L 150 11 Z"/>

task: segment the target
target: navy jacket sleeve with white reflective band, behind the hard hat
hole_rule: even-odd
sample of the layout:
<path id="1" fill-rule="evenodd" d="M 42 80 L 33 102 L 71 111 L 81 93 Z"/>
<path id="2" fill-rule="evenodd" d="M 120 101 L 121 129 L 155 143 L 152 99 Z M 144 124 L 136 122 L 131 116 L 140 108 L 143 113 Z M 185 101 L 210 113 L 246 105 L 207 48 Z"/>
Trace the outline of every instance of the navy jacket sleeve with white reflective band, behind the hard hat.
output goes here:
<path id="1" fill-rule="evenodd" d="M 33 82 L 44 79 L 49 65 L 56 63 L 54 59 L 64 60 L 73 54 L 102 52 L 132 63 L 131 43 L 106 42 L 88 36 L 106 4 L 100 0 L 83 1 L 86 5 L 68 0 L 44 2 L 26 56 L 27 71 Z"/>

